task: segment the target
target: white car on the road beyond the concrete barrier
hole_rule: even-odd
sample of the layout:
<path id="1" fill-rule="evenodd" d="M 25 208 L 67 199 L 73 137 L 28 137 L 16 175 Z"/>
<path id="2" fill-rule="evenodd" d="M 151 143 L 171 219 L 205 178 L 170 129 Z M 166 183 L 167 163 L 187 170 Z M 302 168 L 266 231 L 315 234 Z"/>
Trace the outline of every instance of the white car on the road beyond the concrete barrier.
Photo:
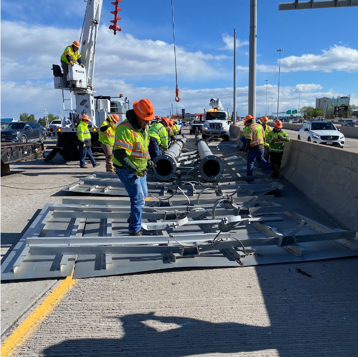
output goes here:
<path id="1" fill-rule="evenodd" d="M 299 140 L 318 144 L 345 146 L 345 136 L 329 121 L 308 121 L 298 132 Z"/>

